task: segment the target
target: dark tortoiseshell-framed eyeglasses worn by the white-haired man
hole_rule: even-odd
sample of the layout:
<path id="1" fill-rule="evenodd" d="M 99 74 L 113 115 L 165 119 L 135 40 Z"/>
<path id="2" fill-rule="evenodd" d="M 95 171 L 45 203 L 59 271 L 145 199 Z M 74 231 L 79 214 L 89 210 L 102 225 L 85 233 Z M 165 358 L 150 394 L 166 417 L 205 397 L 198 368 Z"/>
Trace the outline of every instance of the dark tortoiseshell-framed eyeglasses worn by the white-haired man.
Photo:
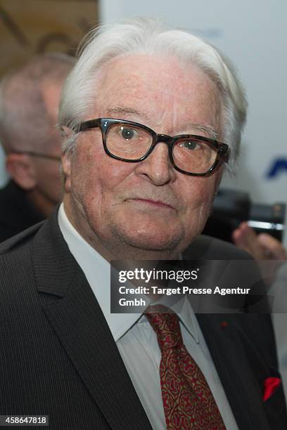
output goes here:
<path id="1" fill-rule="evenodd" d="M 96 127 L 101 129 L 106 153 L 125 162 L 143 161 L 160 142 L 167 144 L 174 169 L 191 176 L 209 176 L 229 159 L 226 143 L 195 134 L 158 134 L 138 122 L 123 119 L 89 119 L 80 123 L 77 131 Z"/>

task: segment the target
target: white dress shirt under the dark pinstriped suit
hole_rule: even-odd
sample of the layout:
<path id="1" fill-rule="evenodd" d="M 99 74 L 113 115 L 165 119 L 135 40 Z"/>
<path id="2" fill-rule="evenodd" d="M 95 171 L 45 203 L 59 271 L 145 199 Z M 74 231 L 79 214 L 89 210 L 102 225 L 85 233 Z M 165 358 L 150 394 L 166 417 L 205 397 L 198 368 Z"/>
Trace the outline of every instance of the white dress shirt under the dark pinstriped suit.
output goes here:
<path id="1" fill-rule="evenodd" d="M 63 204 L 58 211 L 58 223 L 70 252 L 82 268 L 110 327 L 122 360 L 146 415 L 155 430 L 165 430 L 165 413 L 160 389 L 160 348 L 157 336 L 141 313 L 110 313 L 110 263 L 91 247 L 72 226 Z M 189 301 L 172 307 L 180 320 L 184 344 L 199 365 L 227 430 L 238 430 L 227 396 Z"/>

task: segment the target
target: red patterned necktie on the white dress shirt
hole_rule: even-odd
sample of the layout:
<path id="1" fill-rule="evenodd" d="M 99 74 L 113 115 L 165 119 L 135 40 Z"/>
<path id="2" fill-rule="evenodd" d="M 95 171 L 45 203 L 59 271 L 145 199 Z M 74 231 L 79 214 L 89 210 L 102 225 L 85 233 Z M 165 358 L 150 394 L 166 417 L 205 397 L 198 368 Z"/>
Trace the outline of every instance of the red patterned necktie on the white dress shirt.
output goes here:
<path id="1" fill-rule="evenodd" d="M 162 305 L 150 306 L 147 312 L 162 353 L 160 384 L 167 429 L 226 430 L 208 383 L 183 344 L 177 315 Z"/>

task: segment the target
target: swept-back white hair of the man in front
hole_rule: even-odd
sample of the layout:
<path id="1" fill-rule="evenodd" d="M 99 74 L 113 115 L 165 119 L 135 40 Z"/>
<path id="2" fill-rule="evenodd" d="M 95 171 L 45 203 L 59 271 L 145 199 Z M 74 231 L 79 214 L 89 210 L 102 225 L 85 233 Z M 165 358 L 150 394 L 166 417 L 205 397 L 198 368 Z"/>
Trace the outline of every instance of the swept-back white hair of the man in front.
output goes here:
<path id="1" fill-rule="evenodd" d="M 221 94 L 222 141 L 231 147 L 231 162 L 238 155 L 246 119 L 247 101 L 230 60 L 200 37 L 186 30 L 174 30 L 157 19 L 134 18 L 101 25 L 89 34 L 79 60 L 68 77 L 60 102 L 59 126 L 75 131 L 63 142 L 69 151 L 77 140 L 77 127 L 95 103 L 98 72 L 108 60 L 136 54 L 175 56 L 193 63 L 208 75 Z"/>

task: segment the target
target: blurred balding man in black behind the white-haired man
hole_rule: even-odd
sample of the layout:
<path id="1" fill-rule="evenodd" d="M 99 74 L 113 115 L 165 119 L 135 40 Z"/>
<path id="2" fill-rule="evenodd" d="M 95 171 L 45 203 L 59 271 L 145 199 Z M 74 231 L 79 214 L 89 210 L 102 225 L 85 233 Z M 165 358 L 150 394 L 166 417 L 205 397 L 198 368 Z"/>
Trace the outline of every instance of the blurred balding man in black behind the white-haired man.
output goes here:
<path id="1" fill-rule="evenodd" d="M 0 190 L 0 241 L 42 221 L 60 202 L 60 90 L 74 58 L 35 56 L 0 87 L 0 142 L 11 181 Z"/>

